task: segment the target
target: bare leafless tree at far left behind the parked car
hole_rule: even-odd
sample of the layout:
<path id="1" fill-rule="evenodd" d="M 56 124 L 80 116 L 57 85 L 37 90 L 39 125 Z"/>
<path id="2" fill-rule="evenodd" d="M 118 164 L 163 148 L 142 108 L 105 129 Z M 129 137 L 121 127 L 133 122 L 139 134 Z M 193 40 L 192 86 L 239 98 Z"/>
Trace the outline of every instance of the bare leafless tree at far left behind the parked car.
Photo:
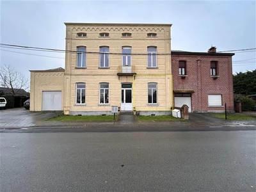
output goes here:
<path id="1" fill-rule="evenodd" d="M 29 88 L 29 79 L 17 72 L 10 65 L 4 65 L 0 70 L 0 86 L 12 89 L 13 95 L 19 93 L 21 89 L 27 90 Z"/>

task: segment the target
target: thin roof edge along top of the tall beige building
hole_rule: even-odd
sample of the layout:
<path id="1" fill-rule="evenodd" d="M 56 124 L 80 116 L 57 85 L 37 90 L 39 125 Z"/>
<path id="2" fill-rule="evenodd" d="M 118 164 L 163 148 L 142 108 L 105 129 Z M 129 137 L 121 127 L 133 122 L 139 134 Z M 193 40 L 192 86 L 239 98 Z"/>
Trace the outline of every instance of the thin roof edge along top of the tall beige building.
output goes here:
<path id="1" fill-rule="evenodd" d="M 83 22 L 64 22 L 66 26 L 83 25 L 83 26 L 166 26 L 171 27 L 172 24 L 140 24 L 140 23 L 83 23 Z"/>

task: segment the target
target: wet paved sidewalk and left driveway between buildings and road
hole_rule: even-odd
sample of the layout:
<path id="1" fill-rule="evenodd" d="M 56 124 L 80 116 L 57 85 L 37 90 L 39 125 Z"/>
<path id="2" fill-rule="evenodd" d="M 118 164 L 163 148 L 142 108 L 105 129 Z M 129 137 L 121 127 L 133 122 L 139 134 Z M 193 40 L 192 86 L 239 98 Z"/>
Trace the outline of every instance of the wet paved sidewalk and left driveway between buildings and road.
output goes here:
<path id="1" fill-rule="evenodd" d="M 113 122 L 46 121 L 61 115 L 62 111 L 31 112 L 24 108 L 0 110 L 0 129 L 30 128 L 175 128 L 175 127 L 255 127 L 256 120 L 222 120 L 208 113 L 189 113 L 189 120 L 140 121 L 136 116 L 121 114 Z"/>

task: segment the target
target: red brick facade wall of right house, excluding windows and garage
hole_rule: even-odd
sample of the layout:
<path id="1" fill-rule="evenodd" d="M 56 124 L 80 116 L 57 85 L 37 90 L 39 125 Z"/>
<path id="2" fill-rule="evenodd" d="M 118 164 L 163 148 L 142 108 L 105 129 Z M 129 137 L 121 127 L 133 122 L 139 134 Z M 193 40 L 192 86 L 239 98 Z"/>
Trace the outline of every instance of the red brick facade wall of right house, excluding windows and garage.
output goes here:
<path id="1" fill-rule="evenodd" d="M 172 52 L 173 90 L 193 90 L 192 111 L 234 111 L 232 55 Z M 186 77 L 179 76 L 179 61 L 186 61 Z M 210 76 L 211 61 L 218 61 L 217 78 Z M 208 95 L 220 94 L 221 107 L 209 107 Z"/>

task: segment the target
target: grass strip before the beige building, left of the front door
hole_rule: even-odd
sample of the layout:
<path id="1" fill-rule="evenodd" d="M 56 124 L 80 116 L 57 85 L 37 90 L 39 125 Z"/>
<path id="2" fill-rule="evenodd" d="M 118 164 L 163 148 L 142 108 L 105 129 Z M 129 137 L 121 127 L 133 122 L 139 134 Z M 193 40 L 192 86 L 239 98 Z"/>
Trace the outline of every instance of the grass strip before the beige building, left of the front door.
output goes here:
<path id="1" fill-rule="evenodd" d="M 113 115 L 106 116 L 72 116 L 72 115 L 61 115 L 55 118 L 50 118 L 49 121 L 86 121 L 86 122 L 109 122 L 113 121 Z"/>

